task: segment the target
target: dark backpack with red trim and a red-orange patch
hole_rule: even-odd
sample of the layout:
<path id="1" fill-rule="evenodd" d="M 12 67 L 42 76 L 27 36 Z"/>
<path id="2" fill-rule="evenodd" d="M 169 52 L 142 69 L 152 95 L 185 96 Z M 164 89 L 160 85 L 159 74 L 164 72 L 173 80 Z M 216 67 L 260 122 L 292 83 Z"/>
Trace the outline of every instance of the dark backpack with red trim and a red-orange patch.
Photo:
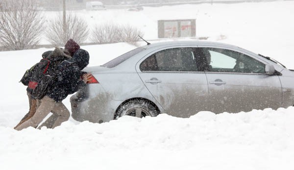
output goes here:
<path id="1" fill-rule="evenodd" d="M 34 67 L 34 73 L 28 82 L 28 88 L 33 90 L 33 98 L 41 99 L 45 96 L 45 92 L 54 74 L 54 67 L 52 65 L 49 59 L 42 59 Z"/>

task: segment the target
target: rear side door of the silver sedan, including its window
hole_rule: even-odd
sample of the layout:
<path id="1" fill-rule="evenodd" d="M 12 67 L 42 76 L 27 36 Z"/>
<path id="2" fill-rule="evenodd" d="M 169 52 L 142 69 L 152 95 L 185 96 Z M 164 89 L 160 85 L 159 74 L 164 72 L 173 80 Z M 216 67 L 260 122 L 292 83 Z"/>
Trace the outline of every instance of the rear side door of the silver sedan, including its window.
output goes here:
<path id="1" fill-rule="evenodd" d="M 208 109 L 207 79 L 198 70 L 195 49 L 156 50 L 136 66 L 149 92 L 169 115 L 187 118 Z"/>

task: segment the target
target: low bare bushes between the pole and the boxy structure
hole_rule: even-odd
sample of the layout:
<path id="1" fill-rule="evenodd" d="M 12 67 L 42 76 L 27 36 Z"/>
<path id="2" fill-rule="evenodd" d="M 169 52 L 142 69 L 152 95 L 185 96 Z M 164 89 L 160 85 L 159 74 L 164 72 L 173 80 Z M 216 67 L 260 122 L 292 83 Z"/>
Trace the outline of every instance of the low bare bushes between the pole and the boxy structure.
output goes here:
<path id="1" fill-rule="evenodd" d="M 136 27 L 113 23 L 96 25 L 92 34 L 91 40 L 97 44 L 127 42 L 136 45 L 139 40 L 138 35 L 143 36 Z"/>

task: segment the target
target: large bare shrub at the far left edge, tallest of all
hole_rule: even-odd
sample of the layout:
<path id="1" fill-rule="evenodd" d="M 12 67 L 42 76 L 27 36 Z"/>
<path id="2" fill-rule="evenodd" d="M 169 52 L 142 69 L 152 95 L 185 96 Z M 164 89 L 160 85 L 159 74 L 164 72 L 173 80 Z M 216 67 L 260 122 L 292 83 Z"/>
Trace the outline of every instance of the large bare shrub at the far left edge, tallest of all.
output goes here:
<path id="1" fill-rule="evenodd" d="M 0 46 L 6 49 L 34 48 L 44 24 L 35 0 L 1 0 Z"/>

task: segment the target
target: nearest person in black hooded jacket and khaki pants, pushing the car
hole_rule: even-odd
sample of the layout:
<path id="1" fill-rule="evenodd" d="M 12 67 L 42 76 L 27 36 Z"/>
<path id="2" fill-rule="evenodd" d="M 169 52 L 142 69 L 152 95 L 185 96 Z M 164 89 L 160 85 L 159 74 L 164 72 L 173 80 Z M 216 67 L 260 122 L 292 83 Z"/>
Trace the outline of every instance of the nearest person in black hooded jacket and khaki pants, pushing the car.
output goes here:
<path id="1" fill-rule="evenodd" d="M 41 99 L 41 105 L 35 115 L 18 126 L 16 130 L 38 126 L 51 111 L 58 116 L 53 122 L 52 128 L 69 119 L 70 112 L 64 106 L 62 100 L 85 86 L 91 77 L 91 74 L 81 72 L 89 64 L 89 53 L 84 49 L 79 49 L 78 46 L 78 49 L 71 51 L 70 54 L 73 54 L 72 59 L 65 60 L 57 66 L 53 81 L 46 92 L 46 96 Z"/>

